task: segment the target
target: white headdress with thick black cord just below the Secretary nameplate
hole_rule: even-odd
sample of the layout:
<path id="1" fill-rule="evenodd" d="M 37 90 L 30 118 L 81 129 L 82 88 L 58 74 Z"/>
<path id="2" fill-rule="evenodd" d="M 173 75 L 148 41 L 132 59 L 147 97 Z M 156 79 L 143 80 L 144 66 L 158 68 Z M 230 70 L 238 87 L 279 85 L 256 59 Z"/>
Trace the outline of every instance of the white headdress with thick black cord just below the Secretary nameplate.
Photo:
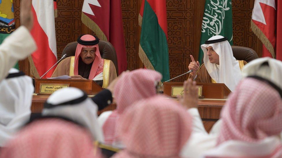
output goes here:
<path id="1" fill-rule="evenodd" d="M 80 123 L 92 134 L 93 140 L 103 142 L 103 132 L 97 121 L 97 104 L 75 87 L 54 92 L 44 104 L 43 117 L 61 117 Z"/>

